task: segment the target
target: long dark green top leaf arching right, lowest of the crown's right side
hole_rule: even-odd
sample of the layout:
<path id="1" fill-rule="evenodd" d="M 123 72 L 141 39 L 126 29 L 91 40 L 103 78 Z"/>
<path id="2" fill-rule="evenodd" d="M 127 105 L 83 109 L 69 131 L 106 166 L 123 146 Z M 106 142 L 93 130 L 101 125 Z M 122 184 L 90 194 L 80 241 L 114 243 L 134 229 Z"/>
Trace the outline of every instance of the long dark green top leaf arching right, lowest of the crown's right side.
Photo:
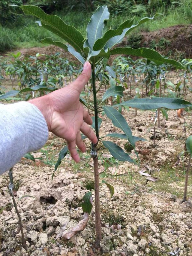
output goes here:
<path id="1" fill-rule="evenodd" d="M 139 49 L 133 49 L 131 47 L 126 48 L 115 48 L 111 50 L 111 55 L 113 54 L 126 54 L 126 55 L 132 55 L 132 56 L 138 56 L 142 58 L 147 58 L 149 60 L 152 60 L 157 65 L 163 64 L 163 63 L 169 63 L 173 66 L 175 66 L 178 69 L 185 69 L 184 66 L 182 66 L 178 61 L 174 59 L 166 59 L 161 56 L 160 53 L 158 53 L 155 50 L 151 50 L 148 48 L 139 48 Z"/>

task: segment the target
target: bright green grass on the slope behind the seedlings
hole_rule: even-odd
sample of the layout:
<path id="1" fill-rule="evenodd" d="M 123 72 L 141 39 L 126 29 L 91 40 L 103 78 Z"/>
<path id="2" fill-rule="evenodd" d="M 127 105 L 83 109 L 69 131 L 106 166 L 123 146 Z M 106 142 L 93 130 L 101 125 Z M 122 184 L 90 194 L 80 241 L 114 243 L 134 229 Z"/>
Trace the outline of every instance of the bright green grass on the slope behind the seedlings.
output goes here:
<path id="1" fill-rule="evenodd" d="M 162 8 L 157 12 L 165 14 L 165 10 Z M 143 24 L 139 29 L 144 31 L 153 31 L 178 24 L 190 24 L 192 23 L 191 13 L 192 11 L 188 8 L 187 4 L 180 5 L 177 8 L 172 7 L 166 11 L 164 16 L 159 16 L 158 18 L 155 18 L 154 21 Z M 91 17 L 91 13 L 77 13 L 71 11 L 67 14 L 64 12 L 58 12 L 56 14 L 61 17 L 65 23 L 75 26 L 83 36 L 86 36 L 86 25 Z M 133 14 L 130 14 L 130 12 L 118 16 L 112 15 L 110 17 L 109 26 L 116 28 L 119 24 L 125 21 L 125 19 L 129 19 L 132 16 Z M 135 23 L 145 16 L 150 17 L 152 14 L 144 13 L 137 15 Z M 35 24 L 35 20 L 37 19 L 23 14 L 23 16 L 20 17 L 19 25 L 11 24 L 10 28 L 3 28 L 0 26 L 0 52 L 11 50 L 14 47 L 41 47 L 42 45 L 40 41 L 45 37 L 51 36 L 55 40 L 59 40 L 56 35 L 52 35 L 51 32 L 38 27 L 38 24 Z"/>

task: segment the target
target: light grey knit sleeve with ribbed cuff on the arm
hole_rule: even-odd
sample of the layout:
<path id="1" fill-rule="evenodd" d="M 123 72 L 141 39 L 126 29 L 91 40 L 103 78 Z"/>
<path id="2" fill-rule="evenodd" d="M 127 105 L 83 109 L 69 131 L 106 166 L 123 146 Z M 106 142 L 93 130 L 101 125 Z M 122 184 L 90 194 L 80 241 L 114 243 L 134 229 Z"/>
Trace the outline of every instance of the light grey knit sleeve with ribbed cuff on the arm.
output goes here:
<path id="1" fill-rule="evenodd" d="M 21 157 L 46 143 L 48 127 L 41 111 L 29 102 L 0 104 L 0 174 Z"/>

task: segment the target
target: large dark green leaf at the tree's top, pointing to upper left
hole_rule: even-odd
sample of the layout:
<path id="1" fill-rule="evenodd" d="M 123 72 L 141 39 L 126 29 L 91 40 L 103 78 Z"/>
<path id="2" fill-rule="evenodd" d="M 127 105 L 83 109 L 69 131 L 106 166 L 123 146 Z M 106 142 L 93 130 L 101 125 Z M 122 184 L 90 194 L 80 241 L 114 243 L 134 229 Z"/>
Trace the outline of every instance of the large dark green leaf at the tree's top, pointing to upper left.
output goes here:
<path id="1" fill-rule="evenodd" d="M 16 5 L 13 5 L 16 6 Z M 41 8 L 34 5 L 19 6 L 27 15 L 34 15 L 41 19 L 42 27 L 48 29 L 54 34 L 72 45 L 79 53 L 83 50 L 84 38 L 82 34 L 73 26 L 69 26 L 56 15 L 46 14 Z"/>

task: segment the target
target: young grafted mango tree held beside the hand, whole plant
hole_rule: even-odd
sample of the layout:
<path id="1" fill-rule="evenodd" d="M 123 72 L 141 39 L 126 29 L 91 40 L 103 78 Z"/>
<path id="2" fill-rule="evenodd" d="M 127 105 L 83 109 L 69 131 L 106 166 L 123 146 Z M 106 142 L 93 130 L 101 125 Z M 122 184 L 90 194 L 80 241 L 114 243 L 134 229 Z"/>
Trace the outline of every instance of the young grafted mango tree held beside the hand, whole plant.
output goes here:
<path id="1" fill-rule="evenodd" d="M 106 137 L 115 137 L 128 140 L 128 142 L 133 146 L 135 150 L 135 138 L 132 135 L 131 129 L 126 122 L 122 114 L 116 110 L 115 107 L 119 105 L 129 106 L 139 109 L 157 109 L 157 108 L 185 108 L 191 106 L 189 102 L 181 99 L 173 98 L 153 98 L 153 99 L 132 99 L 117 105 L 104 106 L 104 102 L 107 98 L 115 95 L 123 96 L 124 88 L 122 86 L 113 86 L 109 88 L 103 95 L 102 101 L 98 101 L 97 93 L 100 90 L 100 86 L 96 84 L 96 80 L 104 79 L 104 71 L 108 71 L 113 77 L 115 76 L 114 71 L 107 65 L 107 61 L 111 55 L 114 54 L 124 54 L 132 55 L 142 58 L 147 58 L 149 61 L 153 61 L 154 65 L 159 65 L 162 63 L 169 63 L 175 66 L 177 69 L 184 69 L 184 67 L 177 61 L 173 59 L 166 59 L 161 56 L 157 51 L 139 48 L 133 49 L 131 47 L 116 47 L 116 44 L 122 42 L 125 35 L 128 35 L 133 29 L 136 29 L 141 24 L 146 21 L 153 20 L 154 17 L 145 17 L 141 19 L 137 24 L 133 25 L 134 17 L 125 20 L 119 25 L 117 29 L 108 29 L 107 21 L 109 20 L 110 13 L 107 6 L 100 6 L 91 16 L 86 29 L 86 38 L 73 26 L 64 23 L 61 18 L 55 15 L 46 14 L 41 8 L 32 5 L 19 6 L 25 14 L 34 15 L 39 21 L 37 23 L 42 28 L 45 28 L 52 33 L 56 34 L 61 38 L 61 41 L 53 41 L 52 38 L 45 38 L 41 42 L 46 44 L 53 44 L 55 46 L 61 47 L 62 49 L 68 51 L 73 56 L 75 56 L 82 64 L 85 61 L 89 61 L 92 67 L 92 93 L 94 103 L 90 104 L 84 99 L 80 99 L 81 102 L 89 109 L 93 110 L 95 117 L 93 118 L 93 127 L 95 129 L 96 136 L 98 137 L 98 142 L 103 143 L 103 145 L 110 151 L 113 157 L 119 161 L 128 161 L 131 163 L 136 163 L 136 160 L 132 159 L 129 154 L 127 154 L 119 145 L 100 139 L 99 128 L 101 125 L 101 118 L 99 118 L 98 113 L 104 111 L 107 117 L 112 121 L 113 125 L 120 128 L 123 133 L 110 133 Z M 65 43 L 67 42 L 67 43 Z M 61 163 L 61 159 L 67 154 L 67 147 L 63 148 L 59 154 L 58 162 L 55 166 L 55 170 Z M 137 154 L 137 153 L 136 153 Z M 100 204 L 99 204 L 99 173 L 98 173 L 98 154 L 97 154 L 97 144 L 91 144 L 91 157 L 94 161 L 94 175 L 95 175 L 95 229 L 96 229 L 96 239 L 95 247 L 99 248 L 101 241 L 101 220 L 100 220 Z M 90 198 L 91 194 L 85 197 L 87 203 L 83 204 L 84 212 L 91 212 Z M 88 206 L 88 208 L 86 208 Z"/>

